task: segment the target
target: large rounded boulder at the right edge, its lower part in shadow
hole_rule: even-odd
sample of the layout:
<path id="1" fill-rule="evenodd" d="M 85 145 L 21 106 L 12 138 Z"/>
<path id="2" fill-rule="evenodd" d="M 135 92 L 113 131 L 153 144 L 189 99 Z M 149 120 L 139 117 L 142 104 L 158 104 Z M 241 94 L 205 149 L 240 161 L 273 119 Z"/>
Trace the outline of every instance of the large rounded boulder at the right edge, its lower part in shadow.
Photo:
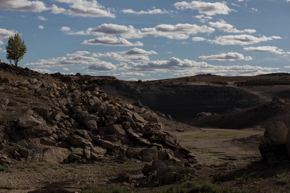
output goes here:
<path id="1" fill-rule="evenodd" d="M 290 157 L 289 128 L 279 121 L 269 124 L 261 137 L 259 150 L 269 166 L 276 166 L 285 157 Z"/>

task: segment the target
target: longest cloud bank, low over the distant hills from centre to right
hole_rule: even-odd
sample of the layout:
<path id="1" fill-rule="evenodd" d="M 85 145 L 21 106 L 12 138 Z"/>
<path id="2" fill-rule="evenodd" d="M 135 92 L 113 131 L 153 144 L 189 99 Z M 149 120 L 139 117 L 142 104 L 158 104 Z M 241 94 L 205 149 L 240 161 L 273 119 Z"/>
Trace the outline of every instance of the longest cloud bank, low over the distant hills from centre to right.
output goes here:
<path id="1" fill-rule="evenodd" d="M 245 76 L 258 75 L 273 72 L 279 68 L 260 67 L 250 65 L 209 65 L 206 62 L 196 62 L 194 60 L 180 60 L 172 57 L 169 60 L 153 60 L 140 63 L 120 63 L 117 65 L 119 70 L 138 71 L 138 72 L 171 72 L 173 75 L 189 76 L 198 73 L 213 73 L 223 76 Z"/>

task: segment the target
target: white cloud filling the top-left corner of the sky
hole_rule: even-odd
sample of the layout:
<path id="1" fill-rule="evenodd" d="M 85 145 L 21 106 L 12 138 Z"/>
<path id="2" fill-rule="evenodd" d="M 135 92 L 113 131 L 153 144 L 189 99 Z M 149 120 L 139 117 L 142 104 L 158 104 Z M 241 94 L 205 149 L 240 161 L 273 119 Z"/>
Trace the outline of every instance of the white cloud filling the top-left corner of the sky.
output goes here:
<path id="1" fill-rule="evenodd" d="M 42 1 L 2 0 L 0 10 L 42 12 L 48 10 Z"/>

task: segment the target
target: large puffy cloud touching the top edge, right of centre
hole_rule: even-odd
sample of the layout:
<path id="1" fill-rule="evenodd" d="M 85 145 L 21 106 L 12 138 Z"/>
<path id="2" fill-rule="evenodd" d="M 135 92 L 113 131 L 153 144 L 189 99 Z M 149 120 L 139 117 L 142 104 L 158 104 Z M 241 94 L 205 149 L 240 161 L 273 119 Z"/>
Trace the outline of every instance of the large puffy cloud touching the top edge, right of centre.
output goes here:
<path id="1" fill-rule="evenodd" d="M 206 14 L 209 16 L 216 14 L 229 14 L 233 9 L 230 9 L 226 2 L 209 3 L 204 1 L 191 1 L 191 2 L 176 2 L 173 4 L 176 9 L 192 9 L 198 10 L 200 14 Z"/>

